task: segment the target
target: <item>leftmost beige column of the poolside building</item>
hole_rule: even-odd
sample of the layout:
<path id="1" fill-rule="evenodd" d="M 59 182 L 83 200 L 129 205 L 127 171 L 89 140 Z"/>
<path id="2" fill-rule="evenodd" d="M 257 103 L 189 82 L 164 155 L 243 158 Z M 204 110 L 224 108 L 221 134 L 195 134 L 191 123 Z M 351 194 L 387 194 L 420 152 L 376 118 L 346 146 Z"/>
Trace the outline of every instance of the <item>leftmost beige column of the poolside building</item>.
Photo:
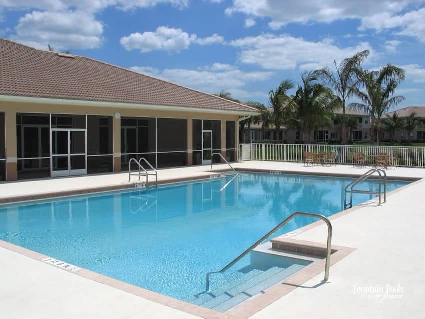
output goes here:
<path id="1" fill-rule="evenodd" d="M 6 111 L 6 176 L 8 181 L 17 180 L 16 112 Z"/>

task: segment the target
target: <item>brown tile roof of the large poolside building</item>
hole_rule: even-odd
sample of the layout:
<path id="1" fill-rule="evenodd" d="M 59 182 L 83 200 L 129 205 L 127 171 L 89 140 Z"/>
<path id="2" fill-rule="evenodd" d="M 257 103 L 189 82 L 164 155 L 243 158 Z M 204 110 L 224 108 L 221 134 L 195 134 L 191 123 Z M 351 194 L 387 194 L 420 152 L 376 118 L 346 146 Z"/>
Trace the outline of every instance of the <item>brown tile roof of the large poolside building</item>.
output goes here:
<path id="1" fill-rule="evenodd" d="M 0 95 L 255 111 L 212 94 L 88 57 L 63 57 L 2 38 Z"/>

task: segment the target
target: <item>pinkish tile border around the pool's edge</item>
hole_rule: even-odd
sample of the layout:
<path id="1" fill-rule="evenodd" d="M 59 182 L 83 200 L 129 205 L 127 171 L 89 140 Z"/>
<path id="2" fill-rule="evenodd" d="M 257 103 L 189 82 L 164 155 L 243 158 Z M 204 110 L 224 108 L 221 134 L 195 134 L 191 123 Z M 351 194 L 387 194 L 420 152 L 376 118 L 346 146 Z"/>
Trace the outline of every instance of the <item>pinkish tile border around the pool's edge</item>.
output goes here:
<path id="1" fill-rule="evenodd" d="M 269 173 L 269 170 L 261 170 L 261 169 L 252 169 L 252 170 L 248 170 L 248 169 L 239 169 L 239 171 L 250 171 L 250 172 L 261 172 L 261 173 Z M 288 174 L 301 174 L 301 175 L 305 175 L 305 172 L 295 172 L 295 171 L 281 171 L 282 173 L 288 173 Z M 216 172 L 212 172 L 211 173 L 216 174 Z M 309 175 L 309 174 L 308 174 Z M 311 174 L 311 175 L 321 175 L 321 176 L 335 176 L 335 177 L 349 177 L 346 174 Z M 354 175 L 354 177 L 358 177 L 358 175 Z M 203 176 L 190 176 L 188 178 L 174 178 L 174 179 L 168 179 L 168 180 L 162 180 L 161 184 L 168 184 L 168 183 L 174 183 L 174 182 L 181 182 L 181 181 L 188 181 L 188 180 L 199 180 L 199 179 L 209 179 L 208 175 L 203 175 Z M 396 177 L 394 179 L 397 180 L 403 180 L 402 177 Z M 425 178 L 408 178 L 408 177 L 404 177 L 404 180 L 409 180 L 412 181 L 411 183 L 402 186 L 400 188 L 394 189 L 393 191 L 389 192 L 387 194 L 387 197 L 402 191 L 408 187 L 411 187 L 415 184 L 421 183 L 425 180 Z M 159 181 L 158 181 L 159 184 Z M 122 186 L 122 185 L 121 185 Z M 128 186 L 128 185 L 125 185 Z M 131 184 L 131 186 L 133 186 L 133 184 Z M 127 188 L 131 188 L 130 187 L 123 187 L 121 189 L 113 189 L 113 190 L 122 190 L 122 189 L 127 189 Z M 110 187 L 110 186 L 106 186 L 106 187 Z M 105 188 L 105 187 L 101 187 L 101 188 Z M 96 188 L 98 189 L 98 188 Z M 79 190 L 75 190 L 78 191 L 79 193 L 77 194 L 70 194 L 67 196 L 73 196 L 73 195 L 78 195 L 78 194 L 83 194 L 80 193 L 81 189 Z M 104 191 L 110 191 L 110 190 L 104 190 Z M 99 191 L 93 191 L 93 192 L 99 192 Z M 86 193 L 86 192 L 85 192 Z M 58 195 L 55 197 L 62 197 L 63 195 Z M 46 198 L 51 198 L 51 197 L 43 197 L 43 198 L 39 198 L 39 199 L 46 199 Z M 28 200 L 34 200 L 32 197 L 31 199 L 26 199 L 25 201 Z M 377 198 L 372 199 L 372 202 L 377 202 Z M 1 202 L 1 200 L 0 200 Z M 360 208 L 364 208 L 364 206 L 354 206 L 352 208 L 346 209 L 346 210 L 342 210 L 332 216 L 329 217 L 330 220 L 342 217 L 348 213 L 351 213 L 355 210 L 358 210 Z M 306 231 L 312 228 L 315 228 L 319 225 L 321 225 L 323 223 L 323 221 L 316 221 L 313 222 L 309 225 L 303 226 L 299 229 L 302 229 L 302 231 Z M 295 235 L 296 236 L 296 235 Z M 287 240 L 287 239 L 286 239 Z M 292 241 L 297 241 L 299 242 L 299 244 L 302 243 L 306 243 L 306 241 L 304 240 L 299 240 L 299 239 L 290 239 Z M 322 243 L 318 243 L 318 242 L 308 242 L 308 245 L 316 245 L 317 247 L 323 247 L 324 244 Z M 265 289 L 263 292 L 263 294 L 261 295 L 255 295 L 252 298 L 247 299 L 246 301 L 242 302 L 239 305 L 236 305 L 235 307 L 231 308 L 228 310 L 228 312 L 217 312 L 211 309 L 207 309 L 207 308 L 203 308 L 201 306 L 189 303 L 189 302 L 185 302 L 185 301 L 181 301 L 166 295 L 162 295 L 160 293 L 157 292 L 153 292 L 141 287 L 137 287 L 134 285 L 131 285 L 129 283 L 125 283 L 123 281 L 111 278 L 111 277 L 107 277 L 104 276 L 102 274 L 90 271 L 88 269 L 84 269 L 84 268 L 79 268 L 78 270 L 75 271 L 69 271 L 66 270 L 64 268 L 60 268 L 55 266 L 54 264 L 49 264 L 49 263 L 45 263 L 43 261 L 43 259 L 45 258 L 50 258 L 50 256 L 47 255 L 43 255 L 41 253 L 38 253 L 36 251 L 30 250 L 30 249 L 26 249 L 24 247 L 0 240 L 0 247 L 1 248 L 5 248 L 7 250 L 11 250 L 13 252 L 19 253 L 21 255 L 24 255 L 26 257 L 30 257 L 32 259 L 35 259 L 39 262 L 42 262 L 46 265 L 50 265 L 50 266 L 54 266 L 57 269 L 61 269 L 63 271 L 67 271 L 70 272 L 72 274 L 76 274 L 82 277 L 85 277 L 87 279 L 96 281 L 98 283 L 102 283 L 105 285 L 108 285 L 110 287 L 113 287 L 115 289 L 119 289 L 122 291 L 125 291 L 127 293 L 145 298 L 147 300 L 159 303 L 161 305 L 164 306 L 168 306 L 171 308 L 174 308 L 176 310 L 179 311 L 183 311 L 192 315 L 196 315 L 205 319 L 229 319 L 229 318 L 234 318 L 234 319 L 247 319 L 250 316 L 254 315 L 255 313 L 259 312 L 260 310 L 262 310 L 263 308 L 267 307 L 268 305 L 272 304 L 273 302 L 277 301 L 278 299 L 280 299 L 281 297 L 283 297 L 284 295 L 288 294 L 289 292 L 291 292 L 292 290 L 294 290 L 295 288 L 301 286 L 303 283 L 307 282 L 308 280 L 314 278 L 315 276 L 317 276 L 318 274 L 320 274 L 321 272 L 324 271 L 324 264 L 325 264 L 325 259 L 319 260 L 319 261 L 315 261 L 313 263 L 311 263 L 310 265 L 308 265 L 307 267 L 305 267 L 304 269 L 301 269 L 300 271 L 297 271 L 296 273 L 290 275 L 289 277 L 283 279 L 282 281 L 270 286 L 269 288 Z M 336 262 L 338 262 L 339 260 L 341 260 L 342 258 L 348 256 L 350 253 L 354 252 L 356 250 L 356 248 L 351 248 L 351 247 L 344 247 L 344 246 L 336 246 L 336 245 L 332 245 L 332 249 L 338 247 L 339 249 L 337 249 L 337 251 L 335 253 L 333 253 L 331 255 L 331 265 L 335 264 Z"/>

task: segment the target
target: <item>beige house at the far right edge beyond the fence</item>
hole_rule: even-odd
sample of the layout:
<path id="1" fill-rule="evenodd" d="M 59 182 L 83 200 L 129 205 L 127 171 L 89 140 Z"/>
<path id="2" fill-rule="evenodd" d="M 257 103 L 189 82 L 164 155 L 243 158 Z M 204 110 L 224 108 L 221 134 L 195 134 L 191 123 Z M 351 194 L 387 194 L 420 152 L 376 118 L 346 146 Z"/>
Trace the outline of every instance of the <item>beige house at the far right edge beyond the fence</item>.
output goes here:
<path id="1" fill-rule="evenodd" d="M 419 123 L 417 124 L 416 128 L 410 133 L 410 138 L 408 138 L 407 136 L 407 131 L 401 128 L 395 132 L 395 141 L 402 141 L 408 139 L 421 142 L 425 141 L 425 106 L 404 107 L 396 111 L 386 113 L 383 117 L 386 117 L 386 115 L 392 116 L 394 113 L 397 113 L 399 117 L 407 117 L 410 116 L 412 113 L 416 113 L 416 116 L 419 118 Z M 384 130 L 382 130 L 381 138 L 390 139 L 389 132 L 385 132 Z"/>

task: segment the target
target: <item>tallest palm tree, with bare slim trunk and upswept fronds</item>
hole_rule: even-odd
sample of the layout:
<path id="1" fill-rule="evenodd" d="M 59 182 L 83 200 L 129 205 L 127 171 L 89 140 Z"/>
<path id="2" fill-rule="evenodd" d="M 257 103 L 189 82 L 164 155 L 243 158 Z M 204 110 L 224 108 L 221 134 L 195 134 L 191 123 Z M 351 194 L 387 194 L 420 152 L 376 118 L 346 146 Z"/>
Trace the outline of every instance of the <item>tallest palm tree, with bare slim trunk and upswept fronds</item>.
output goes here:
<path id="1" fill-rule="evenodd" d="M 357 52 L 350 58 L 343 59 L 339 66 L 334 61 L 336 73 L 330 68 L 324 67 L 314 71 L 314 75 L 321 78 L 321 80 L 331 88 L 339 97 L 342 107 L 342 123 L 341 123 L 341 143 L 346 144 L 346 117 L 345 117 L 345 102 L 353 95 L 353 89 L 358 84 L 358 69 L 361 63 L 369 55 L 369 50 Z"/>

